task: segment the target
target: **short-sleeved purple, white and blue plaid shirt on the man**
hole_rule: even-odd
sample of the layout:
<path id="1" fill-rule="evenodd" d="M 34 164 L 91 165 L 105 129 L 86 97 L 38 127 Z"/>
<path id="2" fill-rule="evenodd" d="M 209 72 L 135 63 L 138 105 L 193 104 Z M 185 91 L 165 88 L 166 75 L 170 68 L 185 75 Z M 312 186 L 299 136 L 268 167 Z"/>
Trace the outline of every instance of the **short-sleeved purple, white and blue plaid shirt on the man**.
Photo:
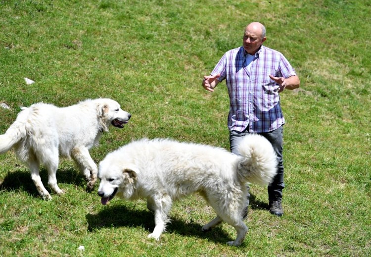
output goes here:
<path id="1" fill-rule="evenodd" d="M 250 132 L 269 132 L 285 123 L 279 104 L 278 84 L 269 75 L 288 78 L 296 75 L 282 53 L 261 46 L 250 65 L 243 47 L 226 52 L 211 75 L 226 79 L 230 97 L 228 127 Z M 250 55 L 251 57 L 251 55 Z"/>

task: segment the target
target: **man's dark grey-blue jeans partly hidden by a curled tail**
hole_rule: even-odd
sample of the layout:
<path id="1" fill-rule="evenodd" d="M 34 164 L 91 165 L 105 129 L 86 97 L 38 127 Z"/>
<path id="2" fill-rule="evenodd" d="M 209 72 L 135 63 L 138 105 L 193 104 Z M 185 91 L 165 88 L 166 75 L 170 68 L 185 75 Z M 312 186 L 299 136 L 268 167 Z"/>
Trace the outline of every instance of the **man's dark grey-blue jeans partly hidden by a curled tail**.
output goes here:
<path id="1" fill-rule="evenodd" d="M 246 130 L 243 132 L 238 131 L 230 131 L 230 147 L 231 152 L 236 154 L 236 148 L 238 143 L 241 141 L 242 137 L 250 134 L 249 127 L 247 127 Z M 283 126 L 280 126 L 278 129 L 270 131 L 270 132 L 263 132 L 263 133 L 257 133 L 259 135 L 264 136 L 266 139 L 268 139 L 269 142 L 271 142 L 276 154 L 277 154 L 277 160 L 278 160 L 278 167 L 277 167 L 277 175 L 274 177 L 272 183 L 268 186 L 268 199 L 269 202 L 273 201 L 281 201 L 282 200 L 282 190 L 285 187 L 285 184 L 283 182 Z M 249 197 L 250 195 L 248 195 Z M 247 200 L 247 204 L 248 204 Z"/>

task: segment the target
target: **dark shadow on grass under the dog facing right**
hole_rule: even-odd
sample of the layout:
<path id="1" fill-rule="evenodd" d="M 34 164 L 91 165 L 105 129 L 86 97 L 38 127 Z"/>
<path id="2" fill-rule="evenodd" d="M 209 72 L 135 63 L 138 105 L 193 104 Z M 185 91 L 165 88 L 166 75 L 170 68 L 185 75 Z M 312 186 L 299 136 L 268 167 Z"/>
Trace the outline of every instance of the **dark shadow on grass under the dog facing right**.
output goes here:
<path id="1" fill-rule="evenodd" d="M 41 180 L 49 193 L 53 193 L 47 185 L 47 171 L 42 169 L 40 171 Z M 65 170 L 58 170 L 57 183 L 74 184 L 77 186 L 86 187 L 86 181 L 84 176 L 81 175 L 77 170 L 70 168 Z M 0 183 L 0 190 L 4 191 L 15 191 L 21 190 L 27 192 L 33 197 L 38 197 L 39 193 L 36 190 L 36 186 L 31 179 L 31 174 L 28 170 L 19 169 L 11 172 L 7 172 L 6 176 Z"/>

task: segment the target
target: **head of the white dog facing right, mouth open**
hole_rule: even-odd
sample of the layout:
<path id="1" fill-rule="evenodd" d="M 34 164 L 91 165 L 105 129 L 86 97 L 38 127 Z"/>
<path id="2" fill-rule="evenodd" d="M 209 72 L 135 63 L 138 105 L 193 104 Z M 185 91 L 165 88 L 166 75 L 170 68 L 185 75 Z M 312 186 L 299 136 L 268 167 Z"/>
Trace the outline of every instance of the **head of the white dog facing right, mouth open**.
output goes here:
<path id="1" fill-rule="evenodd" d="M 120 104 L 111 99 L 97 99 L 97 115 L 107 131 L 109 125 L 123 128 L 132 116 L 129 112 L 121 109 Z"/>

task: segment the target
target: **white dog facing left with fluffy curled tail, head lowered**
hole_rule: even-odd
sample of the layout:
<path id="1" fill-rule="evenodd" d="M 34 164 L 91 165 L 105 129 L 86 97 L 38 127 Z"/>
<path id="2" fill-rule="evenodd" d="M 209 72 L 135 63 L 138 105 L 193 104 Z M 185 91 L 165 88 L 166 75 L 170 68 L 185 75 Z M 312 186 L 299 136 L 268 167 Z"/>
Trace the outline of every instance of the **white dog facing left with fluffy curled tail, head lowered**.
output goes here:
<path id="1" fill-rule="evenodd" d="M 276 154 L 264 137 L 245 136 L 238 151 L 240 155 L 166 139 L 132 142 L 99 163 L 98 195 L 103 205 L 115 195 L 146 199 L 155 215 L 155 228 L 148 237 L 158 240 L 169 221 L 173 201 L 199 192 L 218 215 L 202 230 L 225 221 L 237 231 L 237 238 L 228 244 L 238 246 L 248 230 L 241 216 L 246 183 L 267 185 L 277 173 Z"/>

